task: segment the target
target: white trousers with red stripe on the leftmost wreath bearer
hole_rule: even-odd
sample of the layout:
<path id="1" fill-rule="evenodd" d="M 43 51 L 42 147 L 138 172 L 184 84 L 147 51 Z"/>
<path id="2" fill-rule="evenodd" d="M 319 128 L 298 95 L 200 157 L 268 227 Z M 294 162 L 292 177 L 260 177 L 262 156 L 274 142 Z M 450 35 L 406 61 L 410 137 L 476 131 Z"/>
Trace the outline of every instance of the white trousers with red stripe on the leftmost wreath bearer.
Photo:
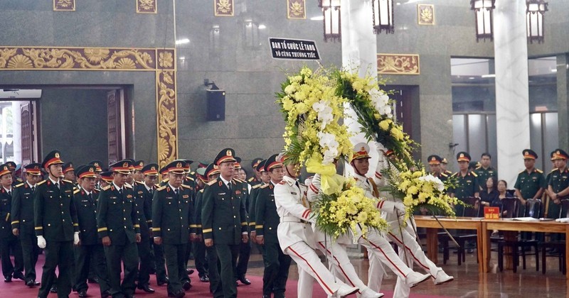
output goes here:
<path id="1" fill-rule="evenodd" d="M 334 294 L 341 285 L 345 285 L 341 280 L 334 279 L 334 275 L 321 263 L 316 251 L 305 242 L 297 242 L 285 249 L 285 253 L 290 255 L 292 260 L 297 263 L 299 268 L 312 276 L 316 280 L 324 292 L 328 295 Z M 300 272 L 300 269 L 299 269 Z M 302 287 L 302 288 L 301 288 Z M 299 276 L 298 295 L 299 297 L 312 297 L 312 282 L 310 282 L 310 290 L 308 292 L 308 281 L 306 278 L 301 282 Z"/>

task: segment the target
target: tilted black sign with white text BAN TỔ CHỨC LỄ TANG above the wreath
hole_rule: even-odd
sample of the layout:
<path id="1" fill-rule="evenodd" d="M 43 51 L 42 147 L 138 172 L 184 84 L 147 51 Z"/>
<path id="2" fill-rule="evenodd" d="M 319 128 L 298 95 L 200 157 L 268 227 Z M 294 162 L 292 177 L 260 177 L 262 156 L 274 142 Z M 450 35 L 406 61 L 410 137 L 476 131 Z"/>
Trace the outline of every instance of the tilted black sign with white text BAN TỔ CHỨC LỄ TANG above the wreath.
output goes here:
<path id="1" fill-rule="evenodd" d="M 320 60 L 314 40 L 269 38 L 272 57 L 289 60 Z"/>

